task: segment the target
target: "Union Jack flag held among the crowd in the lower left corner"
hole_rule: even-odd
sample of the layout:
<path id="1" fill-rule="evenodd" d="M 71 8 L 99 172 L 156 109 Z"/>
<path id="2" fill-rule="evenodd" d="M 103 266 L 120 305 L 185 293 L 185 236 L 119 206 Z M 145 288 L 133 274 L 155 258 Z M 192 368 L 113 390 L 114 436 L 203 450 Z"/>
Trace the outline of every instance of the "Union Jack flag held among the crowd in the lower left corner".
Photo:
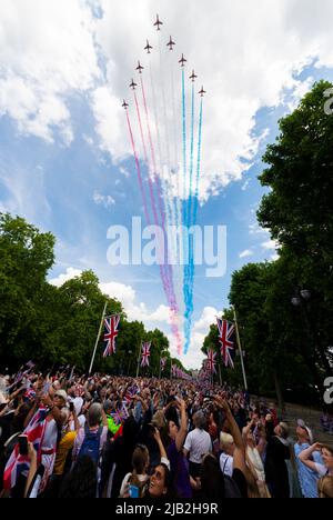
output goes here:
<path id="1" fill-rule="evenodd" d="M 38 466 L 41 462 L 42 442 L 47 426 L 46 419 L 47 409 L 40 408 L 33 416 L 27 429 L 24 430 L 24 436 L 28 437 L 28 442 L 31 442 L 33 444 L 34 450 L 37 451 Z M 6 490 L 12 489 L 16 486 L 19 476 L 23 474 L 24 477 L 27 477 L 29 473 L 29 457 L 20 456 L 19 444 L 17 444 L 4 469 L 3 488 Z"/>

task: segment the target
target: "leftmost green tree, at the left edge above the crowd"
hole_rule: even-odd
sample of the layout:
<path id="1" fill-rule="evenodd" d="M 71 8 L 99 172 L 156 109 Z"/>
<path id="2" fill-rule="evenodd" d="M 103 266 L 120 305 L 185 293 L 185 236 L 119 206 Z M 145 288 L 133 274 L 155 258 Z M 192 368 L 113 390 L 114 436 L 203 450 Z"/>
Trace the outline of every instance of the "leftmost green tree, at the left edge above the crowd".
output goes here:
<path id="1" fill-rule="evenodd" d="M 53 247 L 51 233 L 0 213 L 0 356 L 7 363 L 26 359 L 27 343 L 40 338 L 37 307 L 54 262 Z"/>

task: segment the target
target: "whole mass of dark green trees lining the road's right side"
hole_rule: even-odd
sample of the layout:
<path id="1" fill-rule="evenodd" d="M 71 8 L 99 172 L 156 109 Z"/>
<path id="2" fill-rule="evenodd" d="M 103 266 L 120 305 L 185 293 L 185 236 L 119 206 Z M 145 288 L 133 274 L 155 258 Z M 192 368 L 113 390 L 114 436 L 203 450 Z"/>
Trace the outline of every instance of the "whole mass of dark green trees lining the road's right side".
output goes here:
<path id="1" fill-rule="evenodd" d="M 235 306 L 253 392 L 319 401 L 332 374 L 333 344 L 333 116 L 324 104 L 329 82 L 316 83 L 299 108 L 280 121 L 276 143 L 263 158 L 260 180 L 270 192 L 258 218 L 280 243 L 280 259 L 233 273 Z M 291 302 L 300 291 L 310 301 Z M 216 341 L 214 326 L 204 349 Z M 315 391 L 315 386 L 319 391 Z"/>

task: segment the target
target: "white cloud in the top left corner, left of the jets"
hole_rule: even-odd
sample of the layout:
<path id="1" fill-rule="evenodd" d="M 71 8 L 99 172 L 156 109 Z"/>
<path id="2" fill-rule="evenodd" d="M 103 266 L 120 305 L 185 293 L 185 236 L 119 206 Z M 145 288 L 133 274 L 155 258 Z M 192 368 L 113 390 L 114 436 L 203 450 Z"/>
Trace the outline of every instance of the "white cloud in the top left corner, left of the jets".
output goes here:
<path id="1" fill-rule="evenodd" d="M 1 0 L 0 116 L 48 142 L 73 140 L 67 98 L 99 78 L 94 20 L 80 0 Z"/>

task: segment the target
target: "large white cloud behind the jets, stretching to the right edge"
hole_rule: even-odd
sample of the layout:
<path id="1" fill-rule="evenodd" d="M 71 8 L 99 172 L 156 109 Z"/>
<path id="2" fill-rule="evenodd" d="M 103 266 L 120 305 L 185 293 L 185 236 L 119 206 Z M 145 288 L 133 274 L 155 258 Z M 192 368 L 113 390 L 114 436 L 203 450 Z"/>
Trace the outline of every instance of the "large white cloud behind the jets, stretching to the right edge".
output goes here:
<path id="1" fill-rule="evenodd" d="M 184 0 L 181 4 L 169 2 L 168 8 L 161 0 L 142 0 L 138 8 L 133 7 L 132 1 L 124 0 L 117 10 L 114 0 L 101 0 L 101 4 L 104 16 L 98 22 L 97 38 L 108 60 L 108 87 L 102 92 L 102 99 L 112 108 L 115 104 L 120 107 L 121 100 L 125 97 L 131 104 L 130 116 L 133 121 L 135 120 L 135 109 L 128 84 L 135 74 L 137 60 L 141 59 L 145 67 L 143 78 L 151 104 L 147 70 L 149 62 L 143 52 L 143 42 L 147 37 L 150 38 L 154 47 L 153 77 L 157 92 L 161 94 L 158 110 L 164 159 L 168 156 L 168 136 L 163 126 L 161 87 L 163 81 L 167 100 L 172 104 L 168 81 L 171 77 L 171 67 L 167 54 L 162 54 L 163 68 L 161 71 L 159 69 L 159 43 L 152 28 L 157 11 L 164 21 L 162 49 L 169 33 L 172 33 L 178 43 L 174 69 L 178 70 L 175 68 L 178 54 L 184 52 L 189 60 L 186 73 L 195 67 L 200 76 L 198 87 L 204 83 L 208 96 L 204 101 L 204 147 L 200 184 L 202 200 L 206 200 L 210 194 L 219 193 L 230 181 L 240 180 L 253 161 L 261 141 L 268 137 L 268 130 L 260 137 L 253 134 L 258 110 L 281 103 L 295 103 L 311 83 L 311 79 L 299 80 L 295 79 L 295 74 L 315 57 L 320 58 L 321 64 L 333 61 L 331 28 L 323 21 L 332 19 L 333 6 L 330 1 L 321 2 L 321 9 L 316 10 L 311 2 L 304 3 L 303 0 L 280 2 L 252 0 L 242 6 L 238 2 L 211 0 L 209 9 L 190 0 Z M 299 11 L 302 12 L 301 17 Z M 310 20 L 312 20 L 311 31 L 309 31 Z M 184 30 L 192 26 L 195 27 L 195 31 Z M 123 34 L 125 34 L 125 44 Z M 210 53 L 213 59 L 208 59 Z M 179 99 L 178 72 L 175 78 Z M 285 99 L 286 91 L 292 100 L 290 102 Z M 140 90 L 138 92 L 140 99 Z M 124 129 L 124 116 L 114 109 L 103 112 L 94 110 L 104 149 L 109 149 L 115 160 L 121 160 L 127 149 L 129 150 L 123 141 L 125 132 L 118 130 Z M 178 113 L 181 111 L 176 101 Z M 167 106 L 167 120 L 170 123 L 172 117 L 172 110 L 169 112 Z M 157 142 L 154 124 L 152 127 L 153 140 Z M 111 129 L 114 130 L 112 136 L 110 136 Z M 139 153 L 143 157 L 140 132 L 134 134 Z M 174 136 L 171 137 L 169 132 L 171 154 L 173 154 L 173 138 Z M 181 149 L 179 138 L 180 136 L 178 141 Z M 246 164 L 242 158 L 246 160 Z"/>

